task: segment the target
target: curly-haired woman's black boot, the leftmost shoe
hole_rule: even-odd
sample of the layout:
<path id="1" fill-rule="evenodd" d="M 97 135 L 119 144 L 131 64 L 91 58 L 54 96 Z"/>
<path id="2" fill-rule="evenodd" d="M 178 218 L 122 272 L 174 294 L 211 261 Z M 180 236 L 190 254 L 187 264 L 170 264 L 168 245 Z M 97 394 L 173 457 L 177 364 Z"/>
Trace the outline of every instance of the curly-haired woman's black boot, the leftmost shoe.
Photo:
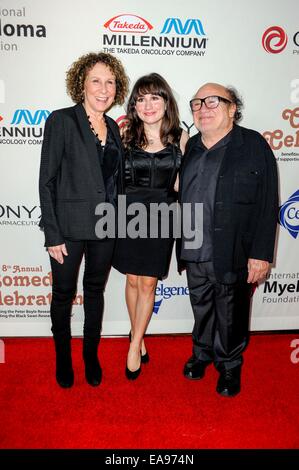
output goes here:
<path id="1" fill-rule="evenodd" d="M 71 355 L 71 338 L 54 338 L 56 351 L 56 381 L 62 388 L 74 385 L 74 371 Z"/>

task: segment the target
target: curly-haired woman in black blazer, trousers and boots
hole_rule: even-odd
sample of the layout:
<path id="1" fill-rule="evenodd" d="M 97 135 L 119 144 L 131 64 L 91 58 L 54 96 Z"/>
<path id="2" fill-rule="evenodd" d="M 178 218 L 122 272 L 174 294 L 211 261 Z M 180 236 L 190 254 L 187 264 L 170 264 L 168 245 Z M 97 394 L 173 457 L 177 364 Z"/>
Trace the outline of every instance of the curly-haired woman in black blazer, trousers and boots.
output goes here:
<path id="1" fill-rule="evenodd" d="M 123 104 L 128 78 L 111 54 L 89 53 L 72 64 L 66 85 L 76 104 L 53 111 L 47 119 L 39 180 L 40 225 L 53 275 L 56 380 L 64 388 L 74 383 L 70 320 L 83 255 L 85 377 L 92 386 L 102 378 L 98 344 L 115 240 L 96 235 L 95 208 L 115 203 L 117 182 L 122 180 L 119 130 L 106 111 Z"/>

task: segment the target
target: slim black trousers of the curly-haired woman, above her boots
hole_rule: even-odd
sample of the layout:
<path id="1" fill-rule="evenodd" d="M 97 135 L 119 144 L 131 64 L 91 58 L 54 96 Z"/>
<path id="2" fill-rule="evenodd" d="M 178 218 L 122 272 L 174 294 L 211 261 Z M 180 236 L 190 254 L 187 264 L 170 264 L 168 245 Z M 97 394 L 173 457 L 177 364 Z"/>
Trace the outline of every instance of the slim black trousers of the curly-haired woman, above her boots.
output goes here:
<path id="1" fill-rule="evenodd" d="M 84 337 L 99 338 L 104 309 L 104 289 L 111 268 L 115 240 L 65 242 L 68 256 L 59 264 L 50 256 L 53 287 L 51 302 L 52 332 L 54 338 L 71 336 L 72 302 L 77 291 L 77 280 L 82 257 L 85 258 L 83 276 Z"/>

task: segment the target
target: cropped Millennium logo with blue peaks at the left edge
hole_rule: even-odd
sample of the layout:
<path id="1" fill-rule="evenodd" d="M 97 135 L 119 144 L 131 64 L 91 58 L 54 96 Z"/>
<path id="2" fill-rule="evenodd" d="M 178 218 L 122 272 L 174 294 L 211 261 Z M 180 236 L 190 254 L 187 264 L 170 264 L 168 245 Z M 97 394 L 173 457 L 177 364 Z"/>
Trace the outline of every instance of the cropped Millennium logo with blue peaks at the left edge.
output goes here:
<path id="1" fill-rule="evenodd" d="M 44 123 L 49 116 L 47 109 L 17 109 L 9 124 L 2 117 L 0 144 L 2 145 L 41 145 Z"/>

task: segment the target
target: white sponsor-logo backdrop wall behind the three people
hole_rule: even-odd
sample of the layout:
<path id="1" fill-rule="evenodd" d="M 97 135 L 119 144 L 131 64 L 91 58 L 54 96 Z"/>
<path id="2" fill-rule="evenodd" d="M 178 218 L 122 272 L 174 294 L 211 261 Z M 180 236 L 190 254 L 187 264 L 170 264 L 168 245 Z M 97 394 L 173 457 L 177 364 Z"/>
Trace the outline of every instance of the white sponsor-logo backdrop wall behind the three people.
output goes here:
<path id="1" fill-rule="evenodd" d="M 298 0 L 1 0 L 0 2 L 0 335 L 51 334 L 51 271 L 38 227 L 43 129 L 72 105 L 65 72 L 80 55 L 119 57 L 131 84 L 158 72 L 178 101 L 181 125 L 196 130 L 188 102 L 208 81 L 233 85 L 241 125 L 258 130 L 279 167 L 275 264 L 252 300 L 251 330 L 299 328 L 299 3 Z M 121 126 L 124 108 L 111 117 Z M 82 288 L 73 334 L 82 334 Z M 104 335 L 127 334 L 125 277 L 112 269 Z M 149 333 L 191 332 L 185 274 L 173 257 L 158 283 Z"/>

